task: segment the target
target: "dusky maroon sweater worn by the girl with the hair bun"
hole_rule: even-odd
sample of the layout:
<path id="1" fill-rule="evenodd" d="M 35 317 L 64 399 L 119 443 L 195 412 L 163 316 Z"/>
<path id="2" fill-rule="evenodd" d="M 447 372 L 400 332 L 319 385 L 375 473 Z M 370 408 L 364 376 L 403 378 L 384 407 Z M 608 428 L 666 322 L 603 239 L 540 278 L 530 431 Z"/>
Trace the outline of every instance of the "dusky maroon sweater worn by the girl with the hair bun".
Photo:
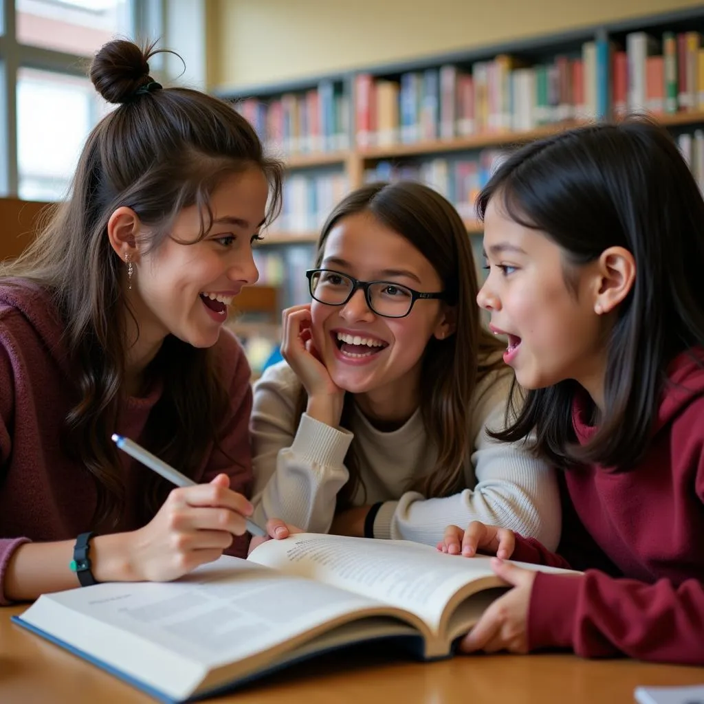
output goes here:
<path id="1" fill-rule="evenodd" d="M 29 540 L 67 540 L 91 529 L 94 482 L 61 444 L 63 422 L 78 398 L 62 333 L 58 312 L 41 289 L 0 284 L 0 605 L 7 603 L 4 574 L 15 548 Z M 208 482 L 225 472 L 232 489 L 249 496 L 249 365 L 237 340 L 226 330 L 215 349 L 225 369 L 230 412 L 223 419 L 221 449 L 208 447 L 193 478 Z M 128 398 L 115 432 L 139 442 L 162 388 L 154 384 L 148 395 Z M 140 527 L 137 509 L 151 474 L 125 453 L 120 458 L 125 510 L 116 532 Z M 241 536 L 228 553 L 245 556 L 248 543 L 249 538 Z"/>

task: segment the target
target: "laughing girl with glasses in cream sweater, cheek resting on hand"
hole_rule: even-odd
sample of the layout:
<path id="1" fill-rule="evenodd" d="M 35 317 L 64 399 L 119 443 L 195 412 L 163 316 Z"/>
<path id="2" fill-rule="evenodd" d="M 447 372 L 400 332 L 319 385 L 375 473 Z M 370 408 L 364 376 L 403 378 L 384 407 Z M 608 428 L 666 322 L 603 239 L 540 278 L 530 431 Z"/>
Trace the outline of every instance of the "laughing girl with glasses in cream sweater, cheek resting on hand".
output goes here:
<path id="1" fill-rule="evenodd" d="M 435 545 L 480 520 L 555 546 L 553 470 L 498 444 L 513 379 L 476 304 L 470 239 L 421 184 L 371 184 L 325 227 L 312 303 L 256 384 L 254 520 Z"/>

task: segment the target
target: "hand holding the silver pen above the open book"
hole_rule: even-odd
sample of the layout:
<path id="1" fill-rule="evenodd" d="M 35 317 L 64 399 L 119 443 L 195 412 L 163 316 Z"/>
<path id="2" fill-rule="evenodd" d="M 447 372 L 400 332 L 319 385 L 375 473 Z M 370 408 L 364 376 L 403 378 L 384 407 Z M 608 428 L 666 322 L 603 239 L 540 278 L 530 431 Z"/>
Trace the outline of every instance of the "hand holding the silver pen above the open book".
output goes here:
<path id="1" fill-rule="evenodd" d="M 232 536 L 246 533 L 253 506 L 218 474 L 210 484 L 174 489 L 156 516 L 125 533 L 130 581 L 169 582 L 217 560 Z"/>

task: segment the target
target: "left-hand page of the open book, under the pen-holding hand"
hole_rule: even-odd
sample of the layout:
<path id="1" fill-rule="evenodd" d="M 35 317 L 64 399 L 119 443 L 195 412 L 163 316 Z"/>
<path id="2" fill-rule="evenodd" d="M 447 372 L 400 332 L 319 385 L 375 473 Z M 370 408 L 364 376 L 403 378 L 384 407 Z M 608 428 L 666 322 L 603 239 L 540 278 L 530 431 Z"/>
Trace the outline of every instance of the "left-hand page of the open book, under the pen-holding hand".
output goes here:
<path id="1" fill-rule="evenodd" d="M 225 556 L 177 582 L 106 583 L 44 595 L 22 618 L 166 691 L 180 677 L 202 677 L 370 608 L 388 612 L 363 596 Z M 193 684 L 183 682 L 184 691 Z"/>

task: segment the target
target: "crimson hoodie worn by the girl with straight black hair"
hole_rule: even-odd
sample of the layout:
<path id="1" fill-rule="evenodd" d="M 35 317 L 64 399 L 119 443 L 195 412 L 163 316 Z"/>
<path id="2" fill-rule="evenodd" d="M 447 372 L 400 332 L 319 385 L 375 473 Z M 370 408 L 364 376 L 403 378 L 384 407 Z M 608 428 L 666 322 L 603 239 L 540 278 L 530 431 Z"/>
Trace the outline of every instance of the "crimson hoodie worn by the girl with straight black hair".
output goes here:
<path id="1" fill-rule="evenodd" d="M 586 570 L 536 576 L 532 650 L 704 665 L 704 368 L 683 354 L 670 382 L 638 466 L 565 472 L 563 557 L 517 538 L 515 560 Z M 574 404 L 582 444 L 596 430 L 586 407 Z"/>

